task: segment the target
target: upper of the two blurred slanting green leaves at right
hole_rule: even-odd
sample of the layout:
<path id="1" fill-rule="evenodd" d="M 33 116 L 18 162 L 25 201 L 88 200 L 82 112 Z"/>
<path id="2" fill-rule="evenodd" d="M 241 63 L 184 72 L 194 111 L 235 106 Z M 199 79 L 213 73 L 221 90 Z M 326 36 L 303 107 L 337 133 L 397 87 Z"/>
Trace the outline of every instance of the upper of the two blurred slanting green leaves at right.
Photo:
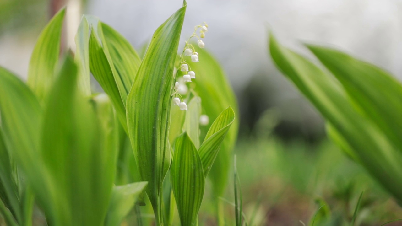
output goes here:
<path id="1" fill-rule="evenodd" d="M 402 149 L 402 84 L 384 70 L 346 53 L 316 45 L 308 48 L 342 83 L 361 112 Z"/>

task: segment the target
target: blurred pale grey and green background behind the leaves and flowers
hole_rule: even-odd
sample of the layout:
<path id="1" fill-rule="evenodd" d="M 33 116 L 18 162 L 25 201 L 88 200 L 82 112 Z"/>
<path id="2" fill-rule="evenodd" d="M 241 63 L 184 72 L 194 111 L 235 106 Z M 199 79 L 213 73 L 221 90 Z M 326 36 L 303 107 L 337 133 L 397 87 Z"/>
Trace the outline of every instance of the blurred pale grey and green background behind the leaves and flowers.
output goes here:
<path id="1" fill-rule="evenodd" d="M 182 2 L 0 0 L 0 65 L 25 79 L 36 37 L 64 4 L 66 46 L 74 47 L 80 14 L 88 13 L 140 51 Z M 304 42 L 331 45 L 402 79 L 401 0 L 188 0 L 182 39 L 203 21 L 209 25 L 205 48 L 222 64 L 238 97 L 241 129 L 235 152 L 246 215 L 256 216 L 255 225 L 308 222 L 317 198 L 330 205 L 334 216 L 347 220 L 362 190 L 358 224 L 378 225 L 402 216 L 392 199 L 326 139 L 318 113 L 267 53 L 267 33 L 272 31 L 306 55 Z M 232 200 L 231 192 L 225 199 Z M 207 203 L 202 211 L 209 213 Z M 227 207 L 229 217 L 233 211 Z"/>

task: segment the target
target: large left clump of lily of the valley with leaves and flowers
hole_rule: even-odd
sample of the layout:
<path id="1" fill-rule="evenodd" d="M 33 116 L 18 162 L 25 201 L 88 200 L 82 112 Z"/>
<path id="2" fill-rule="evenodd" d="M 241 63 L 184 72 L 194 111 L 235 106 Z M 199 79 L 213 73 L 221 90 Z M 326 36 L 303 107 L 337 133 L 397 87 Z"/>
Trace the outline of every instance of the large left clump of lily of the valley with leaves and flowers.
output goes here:
<path id="1" fill-rule="evenodd" d="M 60 60 L 62 9 L 37 40 L 27 84 L 0 67 L 0 213 L 8 225 L 32 225 L 38 212 L 52 226 L 120 225 L 146 203 L 156 225 L 173 224 L 175 210 L 181 225 L 195 225 L 207 175 L 212 195 L 222 195 L 236 101 L 202 49 L 206 23 L 177 54 L 185 11 L 186 2 L 156 29 L 143 59 L 84 15 L 74 55 Z M 91 90 L 90 74 L 105 94 Z"/>

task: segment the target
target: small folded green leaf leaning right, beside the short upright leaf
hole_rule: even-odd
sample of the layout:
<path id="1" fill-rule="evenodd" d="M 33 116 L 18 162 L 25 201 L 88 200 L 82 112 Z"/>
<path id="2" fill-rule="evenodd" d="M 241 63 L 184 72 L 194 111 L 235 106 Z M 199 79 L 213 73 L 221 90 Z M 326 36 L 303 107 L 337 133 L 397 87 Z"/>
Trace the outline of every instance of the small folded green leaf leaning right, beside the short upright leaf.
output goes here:
<path id="1" fill-rule="evenodd" d="M 226 134 L 228 134 L 234 119 L 234 111 L 231 107 L 228 107 L 215 119 L 209 128 L 207 136 L 205 136 L 205 140 L 198 150 L 203 164 L 205 177 L 213 166 L 213 162 L 219 153 L 219 148 L 221 147 Z"/>

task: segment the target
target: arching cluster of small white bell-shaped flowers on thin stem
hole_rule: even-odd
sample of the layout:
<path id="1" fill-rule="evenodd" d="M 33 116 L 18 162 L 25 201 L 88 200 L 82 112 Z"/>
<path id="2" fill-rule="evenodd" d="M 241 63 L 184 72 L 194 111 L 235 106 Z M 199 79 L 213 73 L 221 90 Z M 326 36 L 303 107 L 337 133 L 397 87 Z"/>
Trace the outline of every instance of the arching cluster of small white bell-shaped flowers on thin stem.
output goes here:
<path id="1" fill-rule="evenodd" d="M 197 35 L 198 29 L 199 29 L 199 35 Z M 184 60 L 184 56 L 190 56 L 191 62 L 195 62 L 195 63 L 199 62 L 198 53 L 195 51 L 193 45 L 191 45 L 189 43 L 189 41 L 190 41 L 190 39 L 192 37 L 196 37 L 198 39 L 198 41 L 197 41 L 198 47 L 200 47 L 200 48 L 205 47 L 205 43 L 201 39 L 205 37 L 205 32 L 207 32 L 207 31 L 208 31 L 207 23 L 204 22 L 202 25 L 197 25 L 194 28 L 193 35 L 191 35 L 189 40 L 186 41 L 186 45 L 185 45 L 183 54 L 180 55 L 180 62 L 181 63 L 180 63 L 180 67 L 179 67 L 180 71 L 186 72 L 186 74 L 183 75 L 182 79 L 180 79 L 178 82 L 174 83 L 175 92 L 174 92 L 173 95 L 175 95 L 176 93 L 182 94 L 182 95 L 187 94 L 188 88 L 187 88 L 187 85 L 183 84 L 183 82 L 191 82 L 191 79 L 195 78 L 195 72 L 193 72 L 191 70 L 191 68 L 189 70 L 190 66 Z M 176 74 L 176 73 L 174 73 L 174 74 Z M 174 105 L 177 105 L 178 107 L 180 107 L 180 110 L 182 110 L 182 111 L 184 111 L 184 110 L 187 111 L 188 110 L 187 109 L 187 104 L 185 102 L 181 102 L 180 98 L 178 98 L 178 97 L 173 98 L 173 103 L 174 103 Z"/>

